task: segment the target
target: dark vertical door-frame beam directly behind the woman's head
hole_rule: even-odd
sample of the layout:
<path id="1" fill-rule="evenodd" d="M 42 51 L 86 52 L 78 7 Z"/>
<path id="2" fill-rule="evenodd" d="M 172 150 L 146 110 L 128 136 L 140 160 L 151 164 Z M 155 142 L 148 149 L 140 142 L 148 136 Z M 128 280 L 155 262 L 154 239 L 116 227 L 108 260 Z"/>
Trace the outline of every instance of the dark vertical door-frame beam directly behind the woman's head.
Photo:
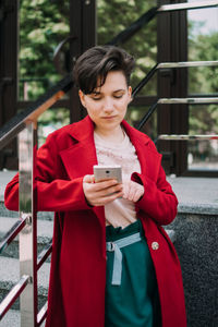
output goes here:
<path id="1" fill-rule="evenodd" d="M 96 45 L 96 0 L 70 1 L 70 29 L 76 40 L 71 46 L 73 61 L 85 50 Z M 70 92 L 70 117 L 75 122 L 85 117 L 86 112 L 80 104 L 77 89 Z"/>

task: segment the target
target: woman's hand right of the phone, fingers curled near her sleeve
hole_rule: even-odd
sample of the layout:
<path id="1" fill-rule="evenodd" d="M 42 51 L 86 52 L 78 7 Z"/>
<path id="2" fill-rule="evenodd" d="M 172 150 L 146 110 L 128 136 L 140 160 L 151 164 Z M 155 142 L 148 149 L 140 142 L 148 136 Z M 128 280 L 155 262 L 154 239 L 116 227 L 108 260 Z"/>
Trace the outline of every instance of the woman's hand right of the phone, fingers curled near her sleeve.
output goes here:
<path id="1" fill-rule="evenodd" d="M 137 202 L 144 195 L 144 193 L 145 189 L 143 185 L 133 181 L 123 182 L 123 198 Z"/>

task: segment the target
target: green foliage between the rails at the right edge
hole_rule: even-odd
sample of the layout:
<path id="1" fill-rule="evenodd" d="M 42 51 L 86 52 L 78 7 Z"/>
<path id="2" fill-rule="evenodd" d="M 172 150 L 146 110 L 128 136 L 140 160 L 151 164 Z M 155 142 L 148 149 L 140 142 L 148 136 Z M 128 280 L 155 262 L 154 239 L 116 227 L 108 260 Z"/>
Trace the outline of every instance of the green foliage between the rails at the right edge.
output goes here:
<path id="1" fill-rule="evenodd" d="M 198 35 L 190 39 L 190 60 L 218 60 L 218 33 Z M 218 68 L 190 69 L 190 94 L 218 94 Z M 190 130 L 193 134 L 218 133 L 218 106 L 194 106 L 190 111 Z"/>

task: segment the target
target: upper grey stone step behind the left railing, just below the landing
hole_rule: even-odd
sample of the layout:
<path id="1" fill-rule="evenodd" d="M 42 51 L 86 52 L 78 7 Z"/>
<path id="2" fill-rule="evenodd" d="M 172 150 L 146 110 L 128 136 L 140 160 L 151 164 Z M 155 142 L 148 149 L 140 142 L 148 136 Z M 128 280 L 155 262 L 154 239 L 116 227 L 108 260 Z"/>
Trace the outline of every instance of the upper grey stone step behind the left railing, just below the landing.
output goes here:
<path id="1" fill-rule="evenodd" d="M 9 231 L 9 229 L 17 221 L 16 218 L 0 217 L 0 240 Z M 37 245 L 38 254 L 45 245 L 52 239 L 53 221 L 37 220 Z M 3 251 L 1 256 L 19 257 L 19 237 Z"/>

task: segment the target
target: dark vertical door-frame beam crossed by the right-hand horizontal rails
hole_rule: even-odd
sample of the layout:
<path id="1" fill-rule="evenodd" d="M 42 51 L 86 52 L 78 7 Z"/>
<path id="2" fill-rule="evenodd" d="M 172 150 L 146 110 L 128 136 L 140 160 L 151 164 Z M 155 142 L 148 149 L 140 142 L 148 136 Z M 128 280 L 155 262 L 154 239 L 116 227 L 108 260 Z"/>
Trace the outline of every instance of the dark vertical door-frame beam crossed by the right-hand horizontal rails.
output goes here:
<path id="1" fill-rule="evenodd" d="M 184 0 L 171 1 L 171 3 Z M 160 0 L 159 5 L 169 4 Z M 187 60 L 186 11 L 158 15 L 158 62 Z M 158 97 L 186 97 L 186 70 L 162 70 L 158 74 Z M 161 105 L 158 108 L 158 134 L 186 134 L 186 105 Z M 181 175 L 186 170 L 186 142 L 159 142 L 167 173 Z"/>

